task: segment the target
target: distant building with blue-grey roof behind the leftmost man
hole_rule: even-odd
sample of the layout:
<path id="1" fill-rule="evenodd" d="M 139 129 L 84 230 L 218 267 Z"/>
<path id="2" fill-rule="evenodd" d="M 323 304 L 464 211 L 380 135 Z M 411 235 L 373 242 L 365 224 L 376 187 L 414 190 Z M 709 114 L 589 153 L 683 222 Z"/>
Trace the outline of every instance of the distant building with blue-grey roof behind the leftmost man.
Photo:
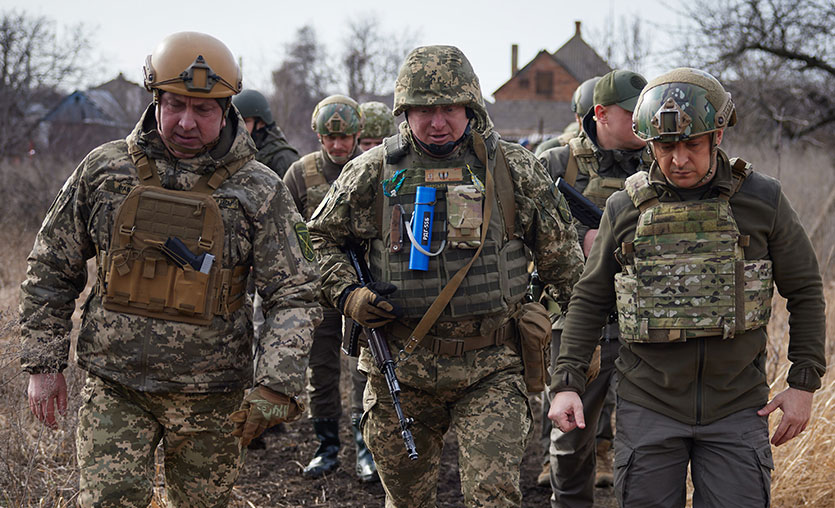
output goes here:
<path id="1" fill-rule="evenodd" d="M 145 88 L 115 79 L 64 97 L 40 121 L 42 150 L 79 159 L 93 148 L 130 133 L 151 102 Z"/>

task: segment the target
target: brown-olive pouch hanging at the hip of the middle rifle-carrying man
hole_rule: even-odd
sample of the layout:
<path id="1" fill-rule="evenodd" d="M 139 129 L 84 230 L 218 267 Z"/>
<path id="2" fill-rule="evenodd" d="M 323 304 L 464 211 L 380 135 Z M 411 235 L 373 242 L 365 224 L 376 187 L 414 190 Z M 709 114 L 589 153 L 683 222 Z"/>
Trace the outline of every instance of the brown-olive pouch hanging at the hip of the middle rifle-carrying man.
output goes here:
<path id="1" fill-rule="evenodd" d="M 538 302 L 522 305 L 516 316 L 519 349 L 525 366 L 528 393 L 543 391 L 551 382 L 548 363 L 551 359 L 551 318 Z"/>

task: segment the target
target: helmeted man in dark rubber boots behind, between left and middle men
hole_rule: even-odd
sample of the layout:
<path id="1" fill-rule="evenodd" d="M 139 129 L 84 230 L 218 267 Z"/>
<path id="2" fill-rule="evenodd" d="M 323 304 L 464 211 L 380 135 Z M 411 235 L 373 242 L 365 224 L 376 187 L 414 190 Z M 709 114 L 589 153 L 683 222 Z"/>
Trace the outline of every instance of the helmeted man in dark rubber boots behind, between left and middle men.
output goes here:
<path id="1" fill-rule="evenodd" d="M 319 206 L 345 164 L 362 153 L 358 141 L 363 128 L 359 105 L 344 95 L 326 97 L 313 110 L 311 128 L 322 148 L 293 163 L 284 176 L 284 183 L 305 219 L 310 219 L 313 210 Z M 302 471 L 307 478 L 318 478 L 339 466 L 342 334 L 342 315 L 335 309 L 325 309 L 325 319 L 316 328 L 310 350 L 310 416 L 313 418 L 313 431 L 319 440 L 319 447 Z M 362 393 L 364 377 L 354 374 L 352 381 L 353 391 Z M 359 417 L 352 415 L 352 421 L 358 422 Z M 362 481 L 376 481 L 376 468 L 371 454 L 364 441 L 356 441 L 357 474 Z"/>

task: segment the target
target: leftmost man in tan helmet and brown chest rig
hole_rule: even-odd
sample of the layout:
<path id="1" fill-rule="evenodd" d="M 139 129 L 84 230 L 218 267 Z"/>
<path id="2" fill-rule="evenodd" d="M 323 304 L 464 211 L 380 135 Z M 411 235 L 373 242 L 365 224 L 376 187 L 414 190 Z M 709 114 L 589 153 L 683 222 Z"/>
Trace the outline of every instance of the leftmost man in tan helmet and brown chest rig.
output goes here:
<path id="1" fill-rule="evenodd" d="M 145 86 L 153 103 L 126 139 L 81 162 L 29 255 L 29 404 L 50 426 L 55 405 L 66 408 L 70 317 L 95 257 L 76 350 L 87 371 L 79 505 L 147 506 L 162 441 L 169 505 L 226 506 L 242 445 L 303 409 L 294 396 L 321 320 L 317 266 L 290 194 L 253 160 L 230 108 L 241 75 L 228 48 L 170 35 L 146 60 Z M 267 315 L 255 364 L 251 268 Z"/>

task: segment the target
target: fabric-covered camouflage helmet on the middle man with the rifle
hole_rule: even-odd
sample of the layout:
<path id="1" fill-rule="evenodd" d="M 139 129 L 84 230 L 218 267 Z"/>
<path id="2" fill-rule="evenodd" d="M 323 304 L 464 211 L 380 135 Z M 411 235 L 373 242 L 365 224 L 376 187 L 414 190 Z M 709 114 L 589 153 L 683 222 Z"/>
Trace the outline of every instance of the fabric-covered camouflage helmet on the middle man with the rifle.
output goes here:
<path id="1" fill-rule="evenodd" d="M 406 56 L 394 84 L 394 115 L 413 106 L 457 104 L 487 118 L 473 66 L 455 46 L 423 46 Z M 478 129 L 477 129 L 478 130 Z"/>

